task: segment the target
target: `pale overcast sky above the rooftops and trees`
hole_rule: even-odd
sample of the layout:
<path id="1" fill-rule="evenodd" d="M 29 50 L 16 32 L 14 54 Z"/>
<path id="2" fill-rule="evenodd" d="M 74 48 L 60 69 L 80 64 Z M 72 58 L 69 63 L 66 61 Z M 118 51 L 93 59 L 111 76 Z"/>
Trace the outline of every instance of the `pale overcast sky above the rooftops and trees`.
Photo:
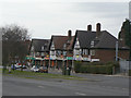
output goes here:
<path id="1" fill-rule="evenodd" d="M 98 0 L 97 0 L 98 1 Z M 71 29 L 87 29 L 102 24 L 102 29 L 118 36 L 122 22 L 129 17 L 129 0 L 0 0 L 0 26 L 17 24 L 28 28 L 33 38 L 67 35 Z M 121 1 L 121 2 L 120 2 Z"/>

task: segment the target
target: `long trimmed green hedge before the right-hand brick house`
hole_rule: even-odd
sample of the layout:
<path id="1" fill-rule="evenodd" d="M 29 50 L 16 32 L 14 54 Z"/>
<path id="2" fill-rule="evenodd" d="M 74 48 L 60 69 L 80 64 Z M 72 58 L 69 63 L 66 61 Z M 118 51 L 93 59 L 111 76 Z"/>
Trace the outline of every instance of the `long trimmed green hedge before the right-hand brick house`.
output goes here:
<path id="1" fill-rule="evenodd" d="M 75 62 L 74 63 L 74 71 L 76 73 L 93 73 L 93 74 L 112 74 L 112 68 L 118 68 L 118 63 L 83 63 L 83 62 Z"/>

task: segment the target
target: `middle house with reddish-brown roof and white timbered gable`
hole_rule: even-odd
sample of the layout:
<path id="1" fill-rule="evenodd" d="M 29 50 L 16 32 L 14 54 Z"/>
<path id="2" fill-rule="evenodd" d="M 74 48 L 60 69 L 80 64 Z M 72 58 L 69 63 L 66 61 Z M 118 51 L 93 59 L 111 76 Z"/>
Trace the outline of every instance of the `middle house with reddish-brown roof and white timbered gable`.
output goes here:
<path id="1" fill-rule="evenodd" d="M 67 61 L 67 57 L 73 57 L 72 39 L 73 36 L 71 36 L 71 30 L 68 32 L 68 36 L 53 36 L 53 35 L 51 36 L 49 45 L 50 66 L 61 69 L 63 62 Z"/>

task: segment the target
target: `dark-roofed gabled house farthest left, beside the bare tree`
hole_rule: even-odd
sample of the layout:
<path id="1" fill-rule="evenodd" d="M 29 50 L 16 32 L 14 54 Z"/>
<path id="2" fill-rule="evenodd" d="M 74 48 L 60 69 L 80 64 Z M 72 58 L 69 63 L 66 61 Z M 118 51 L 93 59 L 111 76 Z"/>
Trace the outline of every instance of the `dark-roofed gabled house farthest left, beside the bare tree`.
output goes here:
<path id="1" fill-rule="evenodd" d="M 29 57 L 33 60 L 37 60 L 38 64 L 47 65 L 49 63 L 49 42 L 50 39 L 32 39 Z M 34 64 L 36 63 L 34 62 Z"/>

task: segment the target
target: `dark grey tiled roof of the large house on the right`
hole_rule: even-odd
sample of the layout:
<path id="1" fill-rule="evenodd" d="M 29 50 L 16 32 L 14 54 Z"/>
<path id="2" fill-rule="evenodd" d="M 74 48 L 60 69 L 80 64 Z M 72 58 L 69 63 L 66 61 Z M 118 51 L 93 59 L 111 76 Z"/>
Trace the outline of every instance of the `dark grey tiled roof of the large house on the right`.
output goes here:
<path id="1" fill-rule="evenodd" d="M 81 48 L 116 48 L 116 41 L 118 40 L 107 30 L 102 30 L 100 35 L 96 38 L 96 32 L 90 30 L 76 30 L 75 37 L 79 38 Z M 91 42 L 94 41 L 94 47 L 91 47 Z"/>

